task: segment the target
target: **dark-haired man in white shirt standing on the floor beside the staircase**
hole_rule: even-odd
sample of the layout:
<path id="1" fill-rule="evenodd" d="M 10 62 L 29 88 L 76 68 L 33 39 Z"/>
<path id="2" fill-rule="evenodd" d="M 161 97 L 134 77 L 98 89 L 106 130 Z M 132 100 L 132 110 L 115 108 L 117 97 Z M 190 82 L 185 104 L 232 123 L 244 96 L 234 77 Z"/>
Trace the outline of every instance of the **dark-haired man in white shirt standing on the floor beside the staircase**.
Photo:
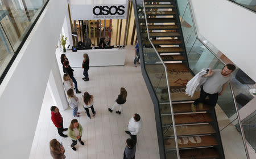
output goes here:
<path id="1" fill-rule="evenodd" d="M 142 130 L 142 120 L 141 116 L 139 114 L 135 113 L 133 117 L 131 117 L 129 124 L 128 124 L 128 130 L 125 131 L 126 134 L 129 134 L 131 136 L 131 139 L 135 141 L 135 144 L 137 143 L 137 135 Z"/>

